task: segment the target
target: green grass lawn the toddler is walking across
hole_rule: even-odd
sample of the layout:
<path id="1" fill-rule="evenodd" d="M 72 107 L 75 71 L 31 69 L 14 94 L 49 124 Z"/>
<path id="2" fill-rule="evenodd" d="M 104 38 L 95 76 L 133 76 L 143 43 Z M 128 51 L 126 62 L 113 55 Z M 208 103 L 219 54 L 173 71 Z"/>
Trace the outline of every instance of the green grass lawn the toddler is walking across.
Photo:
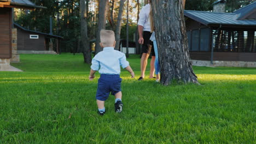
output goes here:
<path id="1" fill-rule="evenodd" d="M 201 86 L 137 81 L 139 57 L 122 70 L 122 113 L 114 97 L 97 114 L 97 79 L 83 55 L 20 55 L 24 72 L 0 72 L 0 143 L 255 143 L 256 69 L 193 67 Z M 147 76 L 149 74 L 147 68 Z"/>

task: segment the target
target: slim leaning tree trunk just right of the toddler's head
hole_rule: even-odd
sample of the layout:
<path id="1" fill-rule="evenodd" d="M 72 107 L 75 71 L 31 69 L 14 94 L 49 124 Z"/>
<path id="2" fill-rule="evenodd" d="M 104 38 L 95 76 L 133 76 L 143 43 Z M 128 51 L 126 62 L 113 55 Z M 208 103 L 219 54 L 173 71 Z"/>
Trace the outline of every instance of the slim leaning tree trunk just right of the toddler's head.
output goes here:
<path id="1" fill-rule="evenodd" d="M 120 33 L 121 33 L 121 22 L 123 16 L 124 0 L 120 1 L 119 12 L 118 12 L 118 21 L 117 26 L 115 27 L 115 50 L 119 50 L 120 45 Z"/>

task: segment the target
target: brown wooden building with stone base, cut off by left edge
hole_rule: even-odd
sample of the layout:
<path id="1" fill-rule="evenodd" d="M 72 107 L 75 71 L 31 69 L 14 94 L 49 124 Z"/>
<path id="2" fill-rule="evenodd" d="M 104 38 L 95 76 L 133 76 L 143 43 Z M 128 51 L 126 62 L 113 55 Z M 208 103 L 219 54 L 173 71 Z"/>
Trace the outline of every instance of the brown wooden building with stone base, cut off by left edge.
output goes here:
<path id="1" fill-rule="evenodd" d="M 0 0 L 0 71 L 15 70 L 10 61 L 19 62 L 17 29 L 13 27 L 13 8 L 45 8 L 28 0 Z"/>

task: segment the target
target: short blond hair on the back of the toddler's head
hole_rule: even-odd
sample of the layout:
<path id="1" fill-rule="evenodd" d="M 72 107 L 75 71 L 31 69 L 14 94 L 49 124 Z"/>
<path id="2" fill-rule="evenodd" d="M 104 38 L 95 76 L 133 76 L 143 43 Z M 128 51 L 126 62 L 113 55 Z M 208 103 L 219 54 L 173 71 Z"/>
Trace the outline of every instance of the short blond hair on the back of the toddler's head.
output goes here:
<path id="1" fill-rule="evenodd" d="M 115 42 L 115 33 L 110 30 L 101 30 L 101 44 L 104 47 L 113 47 Z"/>

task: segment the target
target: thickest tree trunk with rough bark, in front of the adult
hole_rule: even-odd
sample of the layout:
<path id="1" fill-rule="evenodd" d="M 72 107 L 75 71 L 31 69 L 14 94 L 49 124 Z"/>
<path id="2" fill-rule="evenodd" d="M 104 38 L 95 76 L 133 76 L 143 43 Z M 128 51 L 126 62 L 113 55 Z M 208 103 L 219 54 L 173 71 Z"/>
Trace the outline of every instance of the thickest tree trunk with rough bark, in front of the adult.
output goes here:
<path id="1" fill-rule="evenodd" d="M 188 51 L 182 0 L 152 1 L 156 42 L 161 67 L 161 83 L 172 80 L 199 83 Z"/>

